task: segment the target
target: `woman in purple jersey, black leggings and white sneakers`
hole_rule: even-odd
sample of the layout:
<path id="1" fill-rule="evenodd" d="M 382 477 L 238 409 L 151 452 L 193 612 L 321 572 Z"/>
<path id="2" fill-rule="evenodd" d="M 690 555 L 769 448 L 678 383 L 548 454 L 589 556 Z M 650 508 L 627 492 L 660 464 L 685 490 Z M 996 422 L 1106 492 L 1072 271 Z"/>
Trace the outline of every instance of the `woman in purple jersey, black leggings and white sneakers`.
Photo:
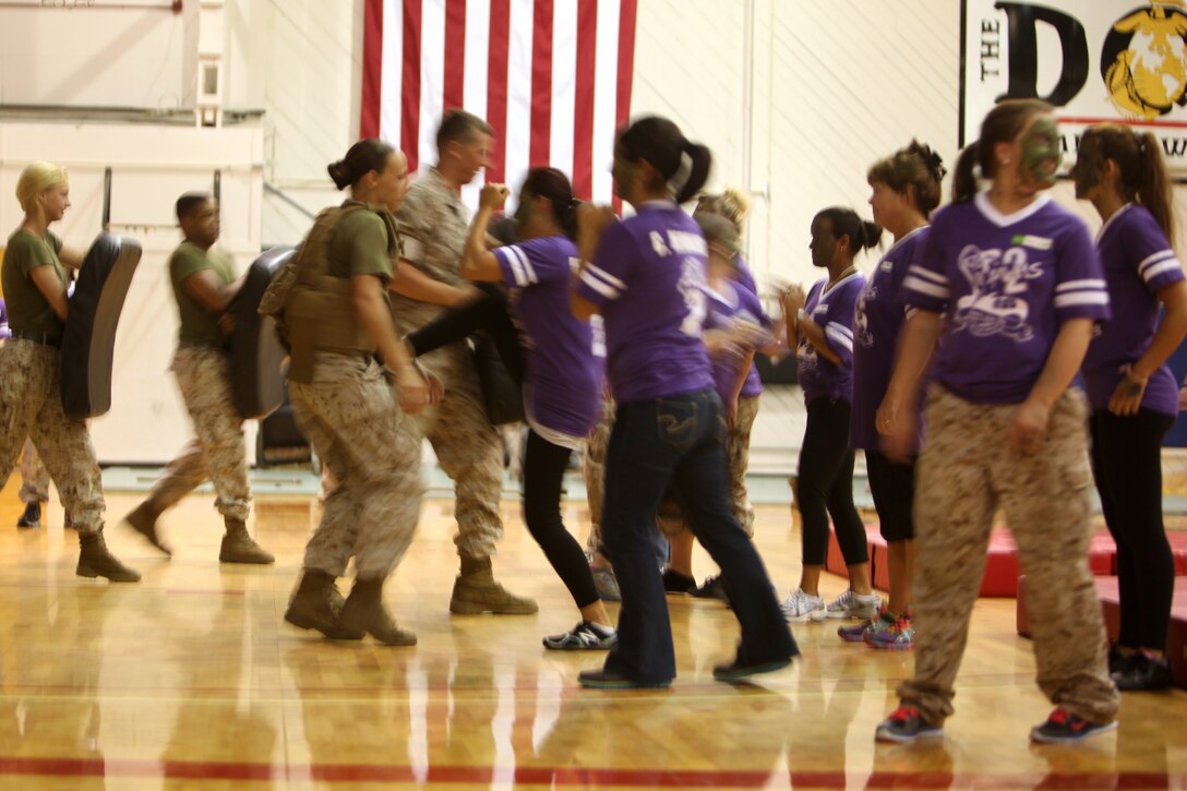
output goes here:
<path id="1" fill-rule="evenodd" d="M 853 262 L 874 247 L 882 228 L 852 209 L 831 208 L 812 220 L 812 265 L 827 270 L 805 296 L 792 286 L 782 296 L 787 344 L 796 347 L 799 380 L 808 407 L 800 445 L 796 501 L 802 517 L 804 571 L 800 586 L 783 602 L 789 621 L 870 620 L 878 596 L 870 582 L 865 525 L 853 506 L 853 450 L 849 419 L 853 400 L 853 311 L 865 276 Z M 820 572 L 829 551 L 829 515 L 849 568 L 849 589 L 825 603 Z"/>

